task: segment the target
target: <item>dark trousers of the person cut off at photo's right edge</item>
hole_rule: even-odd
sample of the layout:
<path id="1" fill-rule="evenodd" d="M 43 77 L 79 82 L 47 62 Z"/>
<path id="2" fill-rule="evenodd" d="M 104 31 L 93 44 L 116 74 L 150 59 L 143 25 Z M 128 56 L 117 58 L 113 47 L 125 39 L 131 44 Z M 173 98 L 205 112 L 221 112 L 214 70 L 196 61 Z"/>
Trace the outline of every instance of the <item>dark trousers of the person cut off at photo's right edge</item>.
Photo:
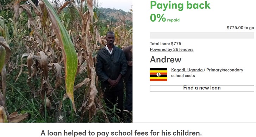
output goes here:
<path id="1" fill-rule="evenodd" d="M 132 111 L 132 75 L 130 75 L 129 79 L 126 82 L 125 85 L 126 88 L 126 100 L 124 104 L 124 109 L 128 111 Z"/>

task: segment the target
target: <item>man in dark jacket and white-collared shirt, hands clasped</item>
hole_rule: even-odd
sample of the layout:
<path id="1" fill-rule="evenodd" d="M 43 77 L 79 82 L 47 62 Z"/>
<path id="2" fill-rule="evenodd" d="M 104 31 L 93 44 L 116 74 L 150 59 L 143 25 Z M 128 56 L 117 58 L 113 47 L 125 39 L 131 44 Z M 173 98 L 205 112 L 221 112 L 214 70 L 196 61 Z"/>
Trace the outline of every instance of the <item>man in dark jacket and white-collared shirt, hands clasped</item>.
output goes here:
<path id="1" fill-rule="evenodd" d="M 113 109 L 116 105 L 116 108 L 121 110 L 117 115 L 122 118 L 124 97 L 122 77 L 127 71 L 127 62 L 123 50 L 114 46 L 115 34 L 108 32 L 106 40 L 106 46 L 97 54 L 96 73 L 101 81 L 107 109 Z"/>

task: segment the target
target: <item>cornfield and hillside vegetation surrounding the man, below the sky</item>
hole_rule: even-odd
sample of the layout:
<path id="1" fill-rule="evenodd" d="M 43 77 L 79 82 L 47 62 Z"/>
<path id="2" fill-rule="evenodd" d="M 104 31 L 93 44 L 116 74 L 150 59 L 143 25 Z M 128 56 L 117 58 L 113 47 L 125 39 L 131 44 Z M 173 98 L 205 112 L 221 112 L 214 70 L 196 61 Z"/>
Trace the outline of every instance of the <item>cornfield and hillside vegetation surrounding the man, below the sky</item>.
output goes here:
<path id="1" fill-rule="evenodd" d="M 0 122 L 132 122 L 131 112 L 106 108 L 95 71 L 110 31 L 116 47 L 132 45 L 132 7 L 1 0 Z"/>

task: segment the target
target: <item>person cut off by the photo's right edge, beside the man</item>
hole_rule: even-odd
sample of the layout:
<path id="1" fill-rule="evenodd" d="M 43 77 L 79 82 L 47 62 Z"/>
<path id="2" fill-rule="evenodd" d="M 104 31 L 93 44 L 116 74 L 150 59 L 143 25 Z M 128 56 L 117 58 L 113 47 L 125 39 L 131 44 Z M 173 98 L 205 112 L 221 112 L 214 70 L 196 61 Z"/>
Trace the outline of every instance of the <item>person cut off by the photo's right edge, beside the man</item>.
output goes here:
<path id="1" fill-rule="evenodd" d="M 127 46 L 123 49 L 127 64 L 128 70 L 124 77 L 125 82 L 125 95 L 126 100 L 124 104 L 124 114 L 126 117 L 126 122 L 131 122 L 132 116 L 132 45 Z"/>

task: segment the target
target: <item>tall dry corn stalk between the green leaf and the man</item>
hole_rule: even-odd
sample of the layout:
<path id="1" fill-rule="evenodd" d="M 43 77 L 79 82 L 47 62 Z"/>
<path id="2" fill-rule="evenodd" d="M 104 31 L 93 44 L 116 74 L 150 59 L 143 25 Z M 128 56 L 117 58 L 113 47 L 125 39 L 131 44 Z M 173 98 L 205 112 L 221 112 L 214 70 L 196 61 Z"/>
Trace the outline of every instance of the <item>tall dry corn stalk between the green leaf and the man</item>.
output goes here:
<path id="1" fill-rule="evenodd" d="M 95 26 L 96 22 L 98 21 L 98 17 L 96 13 L 93 12 L 93 1 L 92 0 L 86 0 L 89 11 L 83 12 L 83 2 L 85 0 L 81 0 L 80 7 L 77 7 L 77 5 L 73 2 L 65 2 L 63 6 L 59 9 L 58 13 L 66 7 L 67 5 L 72 5 L 77 12 L 80 15 L 81 18 L 81 24 L 77 24 L 77 31 L 80 34 L 78 34 L 74 41 L 76 47 L 79 49 L 78 53 L 78 71 L 77 73 L 81 73 L 85 68 L 87 70 L 87 78 L 90 79 L 88 83 L 88 88 L 85 90 L 85 98 L 82 103 L 82 107 L 78 111 L 82 111 L 82 114 L 85 114 L 85 112 L 88 110 L 89 112 L 89 119 L 92 119 L 92 117 L 96 114 L 97 110 L 101 110 L 104 114 L 106 122 L 108 121 L 106 112 L 104 108 L 102 107 L 100 97 L 97 98 L 96 95 L 98 93 L 98 90 L 96 89 L 96 72 L 95 72 L 95 55 L 96 50 L 100 49 L 100 46 L 97 46 L 98 42 L 100 45 L 102 45 L 102 40 L 99 35 L 99 32 L 97 30 L 97 26 Z M 94 19 L 94 22 L 93 22 Z M 83 54 L 81 53 L 83 51 Z M 85 61 L 82 62 L 83 58 L 85 58 Z"/>

